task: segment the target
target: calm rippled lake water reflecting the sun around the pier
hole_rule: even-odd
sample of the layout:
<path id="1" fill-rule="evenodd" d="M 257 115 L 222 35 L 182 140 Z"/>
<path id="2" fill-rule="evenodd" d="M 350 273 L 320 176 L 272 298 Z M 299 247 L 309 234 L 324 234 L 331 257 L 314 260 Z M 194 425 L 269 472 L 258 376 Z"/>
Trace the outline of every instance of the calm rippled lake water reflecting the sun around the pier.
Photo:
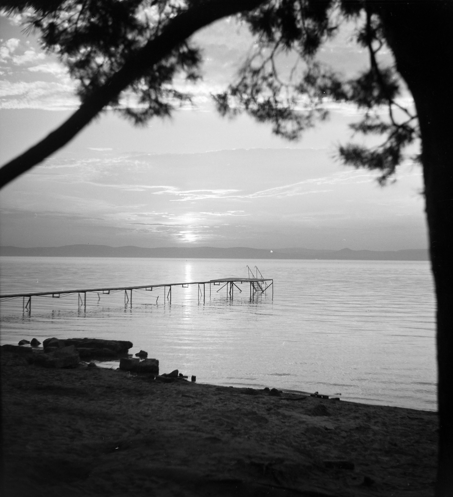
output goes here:
<path id="1" fill-rule="evenodd" d="M 425 261 L 0 257 L 1 293 L 273 278 L 255 294 L 196 285 L 1 303 L 1 343 L 56 336 L 130 340 L 160 371 L 198 382 L 276 387 L 368 404 L 436 410 L 435 297 Z M 157 299 L 157 297 L 159 297 Z M 156 302 L 157 300 L 157 302 Z M 117 363 L 110 364 L 114 367 Z"/>

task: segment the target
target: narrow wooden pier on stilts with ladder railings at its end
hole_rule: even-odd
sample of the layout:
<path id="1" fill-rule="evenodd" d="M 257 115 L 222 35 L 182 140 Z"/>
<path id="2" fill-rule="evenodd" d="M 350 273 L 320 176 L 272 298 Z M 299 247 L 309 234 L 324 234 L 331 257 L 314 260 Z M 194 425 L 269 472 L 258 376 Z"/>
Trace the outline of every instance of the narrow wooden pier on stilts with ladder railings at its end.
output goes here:
<path id="1" fill-rule="evenodd" d="M 255 266 L 256 267 L 256 266 Z M 249 276 L 251 269 L 249 269 Z M 263 278 L 260 273 L 260 277 L 258 277 L 258 273 L 260 272 L 257 269 L 257 277 L 252 278 L 241 278 L 241 277 L 232 277 L 232 278 L 219 278 L 208 281 L 188 281 L 184 283 L 160 283 L 160 284 L 152 284 L 152 285 L 142 285 L 142 286 L 121 286 L 121 287 L 109 287 L 109 288 L 84 288 L 78 290 L 61 290 L 61 291 L 53 291 L 53 292 L 27 292 L 27 293 L 14 293 L 14 294 L 5 294 L 0 295 L 0 301 L 6 301 L 11 299 L 22 298 L 22 311 L 27 311 L 28 314 L 31 314 L 31 298 L 32 297 L 50 297 L 54 299 L 60 298 L 62 295 L 77 295 L 78 296 L 78 305 L 80 307 L 87 308 L 87 293 L 97 293 L 98 301 L 100 300 L 100 295 L 109 295 L 111 292 L 115 293 L 118 291 L 124 291 L 124 304 L 130 305 L 132 307 L 132 291 L 133 290 L 146 290 L 152 292 L 158 288 L 164 289 L 164 298 L 172 303 L 172 287 L 181 286 L 182 288 L 188 288 L 189 285 L 198 285 L 198 300 L 203 298 L 203 302 L 206 298 L 206 285 L 209 284 L 209 296 L 211 296 L 211 286 L 220 286 L 216 293 L 220 292 L 223 288 L 226 287 L 227 297 L 233 298 L 234 289 L 236 288 L 239 292 L 242 290 L 239 288 L 238 284 L 249 283 L 250 284 L 250 298 L 253 299 L 255 293 L 266 293 L 267 290 L 272 291 L 273 298 L 273 279 L 272 278 Z M 255 276 L 252 273 L 252 276 Z M 223 285 L 222 285 L 223 283 Z M 168 291 L 167 291 L 168 288 Z M 128 293 L 129 292 L 129 293 Z M 157 297 L 159 299 L 159 296 Z M 157 300 L 156 300 L 157 302 Z"/>

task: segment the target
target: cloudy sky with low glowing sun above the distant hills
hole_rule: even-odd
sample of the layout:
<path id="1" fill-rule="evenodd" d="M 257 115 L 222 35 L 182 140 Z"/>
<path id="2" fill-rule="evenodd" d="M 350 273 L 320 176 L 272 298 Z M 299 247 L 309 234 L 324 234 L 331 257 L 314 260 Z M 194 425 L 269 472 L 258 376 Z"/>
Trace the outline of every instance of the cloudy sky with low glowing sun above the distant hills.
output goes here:
<path id="1" fill-rule="evenodd" d="M 328 104 L 330 118 L 299 141 L 242 115 L 220 117 L 210 93 L 234 81 L 254 40 L 235 19 L 194 37 L 203 80 L 194 106 L 143 128 L 108 111 L 69 145 L 0 193 L 0 244 L 97 244 L 399 250 L 426 248 L 421 169 L 396 181 L 346 167 L 339 144 L 361 113 Z M 384 54 L 391 63 L 391 54 Z M 345 26 L 320 59 L 353 76 L 367 63 Z M 180 86 L 183 84 L 177 81 Z M 410 103 L 410 95 L 403 95 Z M 0 17 L 0 163 L 56 128 L 78 106 L 75 83 L 20 20 Z"/>

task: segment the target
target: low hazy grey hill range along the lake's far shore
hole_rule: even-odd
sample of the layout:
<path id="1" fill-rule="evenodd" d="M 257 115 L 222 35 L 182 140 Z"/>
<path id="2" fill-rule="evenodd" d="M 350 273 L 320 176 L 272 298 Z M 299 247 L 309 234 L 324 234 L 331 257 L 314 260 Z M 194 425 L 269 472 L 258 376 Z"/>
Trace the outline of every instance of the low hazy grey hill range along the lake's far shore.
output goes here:
<path id="1" fill-rule="evenodd" d="M 429 260 L 428 250 L 314 250 L 311 248 L 215 248 L 215 247 L 109 247 L 107 245 L 65 245 L 64 247 L 0 247 L 0 255 L 27 257 L 179 257 L 216 259 L 349 259 Z"/>

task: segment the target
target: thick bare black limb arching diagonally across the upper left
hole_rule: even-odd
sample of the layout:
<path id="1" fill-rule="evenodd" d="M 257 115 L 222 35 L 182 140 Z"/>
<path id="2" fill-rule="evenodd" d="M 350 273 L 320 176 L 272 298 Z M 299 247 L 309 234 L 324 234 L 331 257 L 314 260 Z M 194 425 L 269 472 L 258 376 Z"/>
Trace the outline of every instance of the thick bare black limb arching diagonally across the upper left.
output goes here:
<path id="1" fill-rule="evenodd" d="M 170 20 L 160 35 L 148 43 L 105 84 L 94 90 L 79 109 L 59 128 L 35 146 L 0 168 L 0 188 L 71 141 L 111 101 L 159 63 L 198 29 L 239 12 L 250 11 L 263 0 L 206 0 L 190 6 Z"/>

